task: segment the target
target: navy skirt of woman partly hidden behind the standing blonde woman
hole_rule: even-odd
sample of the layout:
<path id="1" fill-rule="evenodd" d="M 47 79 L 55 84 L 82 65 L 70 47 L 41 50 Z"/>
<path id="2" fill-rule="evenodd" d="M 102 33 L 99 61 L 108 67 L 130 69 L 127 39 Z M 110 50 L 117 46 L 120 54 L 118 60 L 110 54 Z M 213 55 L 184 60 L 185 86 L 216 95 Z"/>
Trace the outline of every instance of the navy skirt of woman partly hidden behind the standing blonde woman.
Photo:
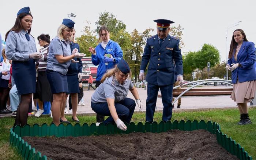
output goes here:
<path id="1" fill-rule="evenodd" d="M 67 74 L 68 80 L 68 92 L 69 93 L 79 93 L 79 81 L 78 81 L 78 73 Z"/>

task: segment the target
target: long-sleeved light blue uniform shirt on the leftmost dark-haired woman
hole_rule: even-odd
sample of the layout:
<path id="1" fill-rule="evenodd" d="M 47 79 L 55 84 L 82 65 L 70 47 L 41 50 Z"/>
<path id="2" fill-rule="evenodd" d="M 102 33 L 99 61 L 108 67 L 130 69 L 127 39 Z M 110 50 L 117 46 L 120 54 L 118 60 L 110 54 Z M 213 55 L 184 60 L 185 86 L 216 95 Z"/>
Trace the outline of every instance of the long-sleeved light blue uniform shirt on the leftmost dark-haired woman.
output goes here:
<path id="1" fill-rule="evenodd" d="M 25 37 L 26 31 L 10 31 L 8 33 L 5 45 L 5 55 L 9 60 L 28 61 L 29 54 L 37 52 L 35 39 L 29 35 L 30 41 Z"/>

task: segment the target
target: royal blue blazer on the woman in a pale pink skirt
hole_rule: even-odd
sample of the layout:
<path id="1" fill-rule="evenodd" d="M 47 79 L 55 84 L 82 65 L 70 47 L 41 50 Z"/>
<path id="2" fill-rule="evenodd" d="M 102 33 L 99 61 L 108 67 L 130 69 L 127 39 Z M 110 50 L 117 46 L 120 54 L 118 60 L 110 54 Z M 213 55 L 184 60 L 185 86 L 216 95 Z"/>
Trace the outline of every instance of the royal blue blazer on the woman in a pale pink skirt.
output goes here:
<path id="1" fill-rule="evenodd" d="M 242 46 L 237 53 L 237 61 L 234 59 L 234 54 L 236 53 L 236 49 L 234 49 L 232 58 L 227 61 L 227 64 L 230 65 L 232 63 L 240 63 L 242 67 L 237 67 L 232 71 L 232 83 L 237 83 L 237 78 L 239 82 L 252 81 L 256 80 L 256 73 L 254 68 L 255 63 L 255 51 L 253 42 L 244 41 Z"/>

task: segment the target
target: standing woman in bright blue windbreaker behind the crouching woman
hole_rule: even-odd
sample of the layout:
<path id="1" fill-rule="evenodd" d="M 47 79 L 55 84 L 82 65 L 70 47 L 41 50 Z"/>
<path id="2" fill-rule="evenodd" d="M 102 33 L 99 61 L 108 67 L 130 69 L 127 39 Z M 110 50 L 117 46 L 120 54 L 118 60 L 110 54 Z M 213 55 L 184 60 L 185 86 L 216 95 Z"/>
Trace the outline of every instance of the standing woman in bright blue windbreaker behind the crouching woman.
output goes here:
<path id="1" fill-rule="evenodd" d="M 99 65 L 97 69 L 97 77 L 95 87 L 97 88 L 101 84 L 101 78 L 108 69 L 114 68 L 121 58 L 123 58 L 123 51 L 120 45 L 110 40 L 109 29 L 106 26 L 99 28 L 99 43 L 96 48 L 89 48 L 89 52 L 92 53 L 91 60 L 94 65 Z M 98 126 L 104 120 L 101 115 L 96 116 Z"/>

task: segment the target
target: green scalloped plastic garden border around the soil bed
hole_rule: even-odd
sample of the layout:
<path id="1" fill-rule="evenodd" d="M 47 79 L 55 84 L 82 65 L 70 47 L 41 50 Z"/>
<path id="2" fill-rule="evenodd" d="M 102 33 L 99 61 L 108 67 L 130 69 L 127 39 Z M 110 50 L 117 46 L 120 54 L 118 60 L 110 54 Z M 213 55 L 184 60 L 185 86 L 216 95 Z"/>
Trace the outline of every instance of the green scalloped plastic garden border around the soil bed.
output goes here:
<path id="1" fill-rule="evenodd" d="M 19 125 L 14 128 L 14 132 L 12 128 L 10 129 L 10 144 L 12 147 L 17 149 L 18 153 L 22 155 L 22 157 L 26 160 L 47 160 L 46 156 L 42 156 L 40 152 L 36 152 L 35 148 L 31 148 L 31 146 L 25 142 L 22 137 L 23 136 L 56 136 L 56 137 L 66 137 L 66 136 L 90 136 L 90 135 L 110 135 L 110 134 L 128 134 L 131 132 L 166 132 L 170 129 L 179 129 L 181 131 L 193 131 L 196 129 L 205 129 L 210 133 L 216 134 L 217 141 L 223 148 L 225 148 L 232 155 L 237 156 L 240 160 L 252 160 L 251 156 L 248 156 L 248 153 L 244 151 L 244 148 L 241 147 L 239 143 L 236 143 L 231 137 L 228 137 L 226 134 L 221 132 L 221 127 L 217 123 L 212 123 L 208 121 L 205 123 L 203 120 L 198 122 L 194 120 L 184 121 L 181 120 L 178 122 L 177 120 L 171 123 L 167 121 L 164 123 L 161 121 L 159 124 L 157 122 L 143 124 L 139 122 L 137 125 L 131 122 L 130 124 L 125 124 L 127 126 L 126 131 L 121 131 L 117 128 L 116 125 L 113 124 L 100 124 L 99 127 L 93 123 L 90 126 L 84 123 L 82 126 L 80 124 L 72 124 L 64 125 L 60 124 L 59 127 L 56 127 L 55 124 L 47 125 L 42 124 L 39 126 L 38 124 L 34 124 L 33 127 L 30 125 L 25 125 L 24 127 L 20 127 Z"/>

